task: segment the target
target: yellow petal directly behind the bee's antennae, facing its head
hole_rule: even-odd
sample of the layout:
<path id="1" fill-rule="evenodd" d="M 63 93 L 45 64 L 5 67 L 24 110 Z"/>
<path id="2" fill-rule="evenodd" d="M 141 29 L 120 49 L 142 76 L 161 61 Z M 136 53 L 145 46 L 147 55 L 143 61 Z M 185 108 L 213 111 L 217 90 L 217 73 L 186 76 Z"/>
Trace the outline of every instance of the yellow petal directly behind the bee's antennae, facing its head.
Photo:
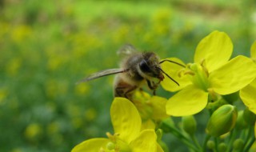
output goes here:
<path id="1" fill-rule="evenodd" d="M 165 60 L 178 62 L 179 64 L 182 64 L 185 66 L 185 63 L 178 58 L 166 58 Z M 178 86 L 174 81 L 172 81 L 170 78 L 165 76 L 165 78 L 161 82 L 163 89 L 174 92 L 177 90 L 181 90 L 182 88 L 184 88 L 185 86 L 191 83 L 187 75 L 182 75 L 181 77 L 179 76 L 181 70 L 185 69 L 184 67 L 179 66 L 172 62 L 163 62 L 161 67 L 162 67 L 162 70 L 166 72 L 166 74 L 168 74 L 171 78 L 173 78 L 179 84 Z"/>

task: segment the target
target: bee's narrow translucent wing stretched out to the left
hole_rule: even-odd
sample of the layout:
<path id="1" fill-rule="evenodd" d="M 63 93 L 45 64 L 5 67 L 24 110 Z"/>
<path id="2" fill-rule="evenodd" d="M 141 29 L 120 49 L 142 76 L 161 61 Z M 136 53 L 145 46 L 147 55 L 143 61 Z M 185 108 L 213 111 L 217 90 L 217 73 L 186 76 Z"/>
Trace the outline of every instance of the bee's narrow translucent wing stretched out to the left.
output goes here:
<path id="1" fill-rule="evenodd" d="M 100 77 L 104 77 L 106 75 L 110 75 L 110 74 L 118 74 L 118 73 L 123 73 L 123 72 L 126 72 L 127 70 L 124 70 L 124 69 L 108 69 L 108 70 L 102 70 L 102 71 L 99 71 L 97 73 L 94 73 L 94 74 L 90 74 L 88 77 L 86 78 L 83 78 L 82 80 L 80 80 L 78 83 L 81 83 L 81 82 L 88 82 L 90 80 L 93 80 L 95 78 L 100 78 Z"/>

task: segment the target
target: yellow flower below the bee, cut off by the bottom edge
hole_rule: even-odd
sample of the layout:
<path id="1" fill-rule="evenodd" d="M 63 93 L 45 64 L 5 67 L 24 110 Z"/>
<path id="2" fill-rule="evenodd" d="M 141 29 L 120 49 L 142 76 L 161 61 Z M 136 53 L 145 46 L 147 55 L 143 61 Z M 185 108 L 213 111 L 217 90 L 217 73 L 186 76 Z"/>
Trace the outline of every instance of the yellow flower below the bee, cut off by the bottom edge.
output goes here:
<path id="1" fill-rule="evenodd" d="M 92 138 L 74 147 L 72 152 L 140 152 L 163 151 L 157 143 L 154 130 L 141 130 L 142 119 L 132 102 L 126 98 L 114 98 L 110 109 L 114 135 L 108 138 Z"/>

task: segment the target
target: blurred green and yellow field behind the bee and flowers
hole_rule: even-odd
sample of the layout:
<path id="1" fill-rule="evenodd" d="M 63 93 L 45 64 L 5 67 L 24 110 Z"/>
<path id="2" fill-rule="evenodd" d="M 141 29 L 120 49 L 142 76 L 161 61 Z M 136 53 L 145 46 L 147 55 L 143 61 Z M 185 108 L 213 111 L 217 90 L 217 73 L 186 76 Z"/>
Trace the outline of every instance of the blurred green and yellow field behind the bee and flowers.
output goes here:
<path id="1" fill-rule="evenodd" d="M 198 42 L 221 30 L 233 56 L 249 56 L 255 24 L 254 0 L 0 0 L 0 151 L 65 152 L 106 137 L 114 76 L 75 82 L 118 67 L 126 43 L 193 62 Z M 166 138 L 171 150 L 186 151 Z"/>

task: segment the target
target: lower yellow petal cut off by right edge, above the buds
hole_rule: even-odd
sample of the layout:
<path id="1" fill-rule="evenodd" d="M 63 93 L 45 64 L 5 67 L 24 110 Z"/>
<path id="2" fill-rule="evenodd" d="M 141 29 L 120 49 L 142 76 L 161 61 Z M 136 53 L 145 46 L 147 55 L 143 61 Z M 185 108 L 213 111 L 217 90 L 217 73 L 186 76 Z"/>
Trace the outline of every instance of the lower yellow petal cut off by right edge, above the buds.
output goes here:
<path id="1" fill-rule="evenodd" d="M 249 108 L 250 111 L 256 114 L 256 78 L 248 86 L 240 90 L 242 102 Z"/>

